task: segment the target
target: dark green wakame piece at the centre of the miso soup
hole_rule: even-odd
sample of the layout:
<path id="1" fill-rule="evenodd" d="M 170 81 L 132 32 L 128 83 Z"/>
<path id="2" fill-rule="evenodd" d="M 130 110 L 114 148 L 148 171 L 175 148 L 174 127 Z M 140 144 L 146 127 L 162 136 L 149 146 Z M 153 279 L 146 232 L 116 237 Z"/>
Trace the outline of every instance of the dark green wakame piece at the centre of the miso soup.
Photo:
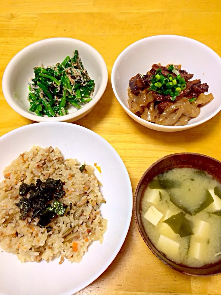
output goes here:
<path id="1" fill-rule="evenodd" d="M 164 220 L 166 224 L 174 231 L 175 234 L 179 234 L 181 238 L 193 234 L 193 224 L 190 220 L 185 218 L 184 213 L 180 212 L 170 218 Z"/>

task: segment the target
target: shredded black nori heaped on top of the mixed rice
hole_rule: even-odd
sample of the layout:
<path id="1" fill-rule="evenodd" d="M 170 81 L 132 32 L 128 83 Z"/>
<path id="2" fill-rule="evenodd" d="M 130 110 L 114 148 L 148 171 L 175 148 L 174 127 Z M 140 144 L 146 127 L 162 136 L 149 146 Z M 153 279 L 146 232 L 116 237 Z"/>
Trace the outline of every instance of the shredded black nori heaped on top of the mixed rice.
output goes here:
<path id="1" fill-rule="evenodd" d="M 27 194 L 30 194 L 27 198 Z M 67 208 L 62 202 L 58 201 L 65 195 L 63 183 L 60 179 L 48 178 L 45 182 L 37 179 L 35 184 L 21 183 L 19 195 L 23 198 L 16 206 L 20 208 L 20 219 L 25 220 L 32 212 L 32 218 L 39 218 L 37 226 L 45 227 L 56 215 L 63 216 Z"/>

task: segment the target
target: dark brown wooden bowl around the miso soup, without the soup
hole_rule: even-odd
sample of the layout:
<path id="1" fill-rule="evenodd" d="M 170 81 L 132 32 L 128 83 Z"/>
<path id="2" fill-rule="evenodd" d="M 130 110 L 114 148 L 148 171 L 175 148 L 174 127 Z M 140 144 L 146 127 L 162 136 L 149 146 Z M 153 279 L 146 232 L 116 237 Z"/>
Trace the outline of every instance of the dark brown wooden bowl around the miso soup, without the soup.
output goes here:
<path id="1" fill-rule="evenodd" d="M 221 182 L 221 162 L 213 159 L 206 155 L 201 155 L 197 153 L 177 153 L 167 155 L 155 163 L 153 163 L 141 177 L 137 189 L 135 191 L 134 198 L 134 214 L 135 220 L 137 222 L 138 230 L 149 249 L 166 265 L 170 266 L 181 273 L 185 273 L 192 276 L 212 276 L 221 273 L 221 259 L 213 264 L 207 264 L 201 267 L 189 267 L 186 265 L 181 265 L 173 262 L 166 257 L 165 254 L 161 253 L 150 241 L 148 235 L 145 232 L 142 219 L 141 219 L 141 200 L 145 188 L 148 186 L 149 182 L 158 174 L 164 173 L 165 171 L 171 170 L 173 168 L 195 168 L 199 170 L 204 170 L 207 173 L 215 177 L 219 182 Z"/>

